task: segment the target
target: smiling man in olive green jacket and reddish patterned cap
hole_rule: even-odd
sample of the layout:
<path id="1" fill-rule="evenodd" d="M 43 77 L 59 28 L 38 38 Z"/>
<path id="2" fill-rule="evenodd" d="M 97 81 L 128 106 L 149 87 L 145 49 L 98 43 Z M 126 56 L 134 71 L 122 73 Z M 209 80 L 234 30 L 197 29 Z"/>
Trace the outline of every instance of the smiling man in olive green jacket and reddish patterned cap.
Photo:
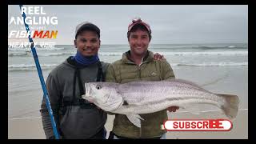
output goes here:
<path id="1" fill-rule="evenodd" d="M 122 59 L 110 64 L 106 71 L 106 82 L 161 81 L 175 78 L 174 71 L 166 59 L 157 61 L 154 54 L 147 50 L 151 29 L 146 22 L 142 22 L 140 18 L 134 19 L 128 26 L 127 38 L 130 50 L 122 55 Z M 178 106 L 171 106 L 168 110 L 175 112 Z M 140 116 L 144 120 L 141 121 L 141 127 L 137 127 L 126 115 L 115 114 L 110 138 L 166 138 L 166 130 L 161 129 L 161 125 L 168 118 L 166 110 Z"/>

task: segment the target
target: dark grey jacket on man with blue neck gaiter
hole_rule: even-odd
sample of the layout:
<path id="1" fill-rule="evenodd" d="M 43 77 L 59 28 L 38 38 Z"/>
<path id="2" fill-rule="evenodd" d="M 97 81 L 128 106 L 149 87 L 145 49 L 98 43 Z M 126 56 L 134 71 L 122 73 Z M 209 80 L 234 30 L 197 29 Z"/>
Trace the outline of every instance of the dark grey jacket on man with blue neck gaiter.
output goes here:
<path id="1" fill-rule="evenodd" d="M 105 75 L 109 64 L 105 62 L 101 62 L 101 64 L 103 75 Z M 81 89 L 85 89 L 85 82 L 97 81 L 98 65 L 95 63 L 79 69 L 76 68 L 78 66 L 75 66 L 74 60 L 71 57 L 67 58 L 65 62 L 50 72 L 46 80 L 46 88 L 61 138 L 92 138 L 104 128 L 107 118 L 106 112 L 93 105 L 90 107 L 87 105 L 88 103 L 81 105 L 79 98 L 83 92 Z M 80 86 L 79 77 L 80 83 L 82 83 Z M 46 138 L 53 138 L 54 132 L 44 98 L 40 112 Z"/>

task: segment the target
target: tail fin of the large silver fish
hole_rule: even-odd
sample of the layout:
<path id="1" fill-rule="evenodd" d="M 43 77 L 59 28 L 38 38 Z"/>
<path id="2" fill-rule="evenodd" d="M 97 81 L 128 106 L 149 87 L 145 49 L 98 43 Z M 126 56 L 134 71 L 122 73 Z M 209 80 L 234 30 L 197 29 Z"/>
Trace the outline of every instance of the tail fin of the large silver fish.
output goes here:
<path id="1" fill-rule="evenodd" d="M 217 94 L 225 99 L 225 103 L 221 106 L 224 114 L 230 119 L 234 119 L 238 114 L 239 98 L 237 95 L 231 94 Z"/>

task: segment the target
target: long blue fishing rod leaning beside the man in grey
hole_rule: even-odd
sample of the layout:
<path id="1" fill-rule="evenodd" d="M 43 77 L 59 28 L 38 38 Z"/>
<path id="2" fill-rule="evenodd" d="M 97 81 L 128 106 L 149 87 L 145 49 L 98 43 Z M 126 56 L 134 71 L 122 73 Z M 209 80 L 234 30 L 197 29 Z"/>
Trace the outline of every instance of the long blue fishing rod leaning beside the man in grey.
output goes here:
<path id="1" fill-rule="evenodd" d="M 22 6 L 23 5 L 19 5 L 21 11 L 22 11 Z M 54 136 L 55 136 L 56 139 L 59 139 L 56 123 L 54 121 L 53 110 L 51 109 L 50 100 L 49 100 L 49 97 L 48 97 L 48 92 L 46 90 L 46 83 L 43 79 L 41 66 L 40 66 L 39 60 L 38 60 L 38 54 L 37 54 L 37 51 L 35 50 L 33 39 L 30 36 L 31 35 L 30 28 L 26 24 L 26 21 L 25 21 L 25 19 L 26 19 L 25 12 L 23 12 L 22 17 L 23 17 L 24 25 L 26 27 L 26 31 L 29 34 L 29 40 L 30 40 L 30 44 L 31 44 L 30 48 L 31 48 L 31 51 L 32 51 L 32 54 L 33 54 L 33 57 L 34 57 L 35 65 L 37 66 L 38 76 L 40 78 L 40 82 L 41 82 L 41 86 L 42 86 L 42 90 L 43 90 L 43 96 L 46 99 L 46 106 L 47 106 L 47 109 L 48 109 L 48 112 L 49 112 L 49 115 L 50 115 L 50 122 L 51 122 L 51 125 L 52 125 L 53 130 L 54 130 Z"/>

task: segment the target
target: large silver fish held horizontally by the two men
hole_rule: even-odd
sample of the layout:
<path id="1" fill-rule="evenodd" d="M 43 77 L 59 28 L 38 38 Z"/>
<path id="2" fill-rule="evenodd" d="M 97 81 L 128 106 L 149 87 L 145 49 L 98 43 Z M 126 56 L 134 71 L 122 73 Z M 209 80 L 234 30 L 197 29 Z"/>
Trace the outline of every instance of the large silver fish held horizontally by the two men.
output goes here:
<path id="1" fill-rule="evenodd" d="M 230 119 L 238 113 L 239 98 L 230 94 L 214 94 L 182 79 L 166 81 L 139 81 L 118 84 L 113 82 L 89 82 L 82 98 L 94 102 L 102 110 L 126 114 L 130 122 L 140 127 L 138 114 L 154 113 L 170 106 L 210 104 L 218 106 Z"/>

